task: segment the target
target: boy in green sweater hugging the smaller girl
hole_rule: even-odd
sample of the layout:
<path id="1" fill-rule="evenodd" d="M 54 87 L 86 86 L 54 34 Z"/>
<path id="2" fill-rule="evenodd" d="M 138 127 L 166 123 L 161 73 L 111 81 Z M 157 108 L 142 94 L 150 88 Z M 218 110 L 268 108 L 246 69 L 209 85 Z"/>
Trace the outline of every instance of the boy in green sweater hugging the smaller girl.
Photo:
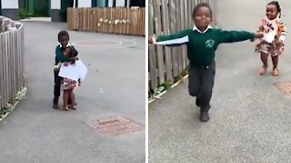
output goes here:
<path id="1" fill-rule="evenodd" d="M 77 57 L 66 57 L 64 55 L 64 50 L 65 47 L 69 46 L 69 34 L 66 31 L 61 31 L 57 34 L 57 39 L 58 42 L 60 44 L 58 44 L 55 47 L 55 66 L 59 63 L 59 62 L 74 62 L 75 60 L 77 60 Z M 55 74 L 55 86 L 54 86 L 54 101 L 53 101 L 53 108 L 54 109 L 58 109 L 58 99 L 60 97 L 61 94 L 61 82 L 62 82 L 62 78 L 58 76 L 58 69 L 54 69 L 54 74 Z M 69 99 L 68 101 L 69 104 L 71 104 L 71 101 Z"/>

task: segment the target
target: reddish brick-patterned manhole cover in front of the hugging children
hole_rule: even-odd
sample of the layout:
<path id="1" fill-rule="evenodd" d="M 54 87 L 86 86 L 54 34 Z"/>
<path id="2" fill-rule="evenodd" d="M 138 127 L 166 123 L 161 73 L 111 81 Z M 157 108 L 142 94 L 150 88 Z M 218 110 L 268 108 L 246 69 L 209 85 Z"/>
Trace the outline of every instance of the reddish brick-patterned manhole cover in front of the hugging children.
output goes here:
<path id="1" fill-rule="evenodd" d="M 125 117 L 109 117 L 101 120 L 91 120 L 87 125 L 102 134 L 110 136 L 117 136 L 144 129 L 144 125 Z"/>

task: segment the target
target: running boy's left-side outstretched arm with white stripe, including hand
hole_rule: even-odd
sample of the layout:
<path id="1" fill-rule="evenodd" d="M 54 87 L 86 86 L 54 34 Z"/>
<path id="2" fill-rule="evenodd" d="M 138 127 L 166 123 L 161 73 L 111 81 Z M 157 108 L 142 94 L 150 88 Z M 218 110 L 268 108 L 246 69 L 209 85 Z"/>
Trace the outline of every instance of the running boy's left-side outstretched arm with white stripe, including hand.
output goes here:
<path id="1" fill-rule="evenodd" d="M 189 30 L 184 30 L 176 34 L 160 35 L 157 37 L 152 36 L 149 38 L 148 43 L 162 44 L 168 46 L 181 45 L 184 43 L 188 43 L 188 33 Z"/>

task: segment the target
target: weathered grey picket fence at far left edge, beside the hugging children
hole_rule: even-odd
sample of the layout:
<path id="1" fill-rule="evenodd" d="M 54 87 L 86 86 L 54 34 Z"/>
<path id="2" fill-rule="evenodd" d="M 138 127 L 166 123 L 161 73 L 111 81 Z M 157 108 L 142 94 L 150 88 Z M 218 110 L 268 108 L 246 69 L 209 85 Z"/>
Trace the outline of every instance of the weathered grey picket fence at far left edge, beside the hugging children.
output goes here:
<path id="1" fill-rule="evenodd" d="M 24 88 L 24 26 L 0 17 L 0 110 Z"/>

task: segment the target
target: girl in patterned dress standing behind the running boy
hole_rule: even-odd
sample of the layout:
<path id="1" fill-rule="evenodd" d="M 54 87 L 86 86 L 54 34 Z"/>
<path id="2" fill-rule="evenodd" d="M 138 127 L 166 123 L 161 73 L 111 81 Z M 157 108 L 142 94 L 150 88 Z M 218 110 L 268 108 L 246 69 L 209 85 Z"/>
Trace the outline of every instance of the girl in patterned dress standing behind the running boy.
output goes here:
<path id="1" fill-rule="evenodd" d="M 272 1 L 266 5 L 266 17 L 259 26 L 259 31 L 267 36 L 256 41 L 256 52 L 261 54 L 263 67 L 260 69 L 260 75 L 264 75 L 267 69 L 267 58 L 271 55 L 273 62 L 273 76 L 279 74 L 278 55 L 284 51 L 284 40 L 286 36 L 286 27 L 280 20 L 281 7 L 278 2 Z"/>

